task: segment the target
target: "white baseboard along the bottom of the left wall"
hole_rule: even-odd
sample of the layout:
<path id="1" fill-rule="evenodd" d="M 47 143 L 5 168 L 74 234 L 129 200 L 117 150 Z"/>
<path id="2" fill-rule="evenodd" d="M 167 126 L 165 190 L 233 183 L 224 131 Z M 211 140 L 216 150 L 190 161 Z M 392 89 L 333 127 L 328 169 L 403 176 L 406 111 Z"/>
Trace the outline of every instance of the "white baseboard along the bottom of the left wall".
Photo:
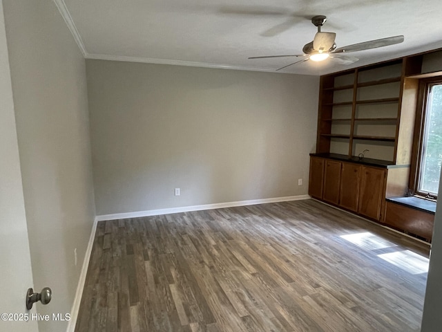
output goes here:
<path id="1" fill-rule="evenodd" d="M 83 295 L 84 283 L 86 282 L 86 275 L 88 273 L 88 266 L 90 260 L 90 254 L 92 253 L 92 247 L 95 239 L 95 232 L 97 231 L 98 219 L 95 217 L 94 223 L 92 225 L 92 230 L 90 231 L 90 237 L 88 242 L 88 247 L 86 248 L 86 253 L 84 254 L 83 265 L 81 266 L 81 273 L 78 279 L 77 291 L 75 292 L 75 299 L 70 309 L 70 321 L 68 323 L 68 328 L 66 332 L 74 332 L 75 324 L 77 324 L 77 317 L 80 308 L 81 295 Z"/>

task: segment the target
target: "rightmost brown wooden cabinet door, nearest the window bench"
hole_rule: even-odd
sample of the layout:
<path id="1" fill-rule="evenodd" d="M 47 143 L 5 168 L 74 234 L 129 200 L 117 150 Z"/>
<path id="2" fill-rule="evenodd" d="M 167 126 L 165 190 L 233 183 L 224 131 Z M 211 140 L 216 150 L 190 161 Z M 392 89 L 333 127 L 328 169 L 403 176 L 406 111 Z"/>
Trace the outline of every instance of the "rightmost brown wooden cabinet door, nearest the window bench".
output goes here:
<path id="1" fill-rule="evenodd" d="M 379 221 L 384 198 L 385 169 L 363 166 L 358 213 Z"/>

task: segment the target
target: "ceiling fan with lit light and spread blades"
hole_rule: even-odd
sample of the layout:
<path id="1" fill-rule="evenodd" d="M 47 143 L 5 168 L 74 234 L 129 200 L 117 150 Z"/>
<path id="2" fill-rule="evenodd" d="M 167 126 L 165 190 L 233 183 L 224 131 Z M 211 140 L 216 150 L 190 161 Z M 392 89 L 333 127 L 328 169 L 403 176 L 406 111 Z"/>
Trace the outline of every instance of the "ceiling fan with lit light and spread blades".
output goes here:
<path id="1" fill-rule="evenodd" d="M 276 71 L 280 71 L 281 69 L 287 68 L 288 66 L 298 64 L 299 62 L 305 62 L 308 60 L 323 61 L 328 57 L 336 59 L 342 64 L 352 64 L 353 62 L 358 61 L 358 58 L 344 55 L 344 53 L 356 52 L 358 50 L 369 50 L 370 48 L 378 48 L 400 44 L 403 42 L 403 35 L 399 35 L 394 37 L 374 39 L 368 42 L 362 42 L 336 48 L 336 44 L 334 42 L 336 38 L 336 33 L 323 33 L 320 30 L 320 27 L 325 24 L 325 21 L 327 21 L 327 17 L 325 17 L 324 15 L 317 15 L 311 18 L 311 23 L 314 24 L 314 26 L 318 27 L 318 32 L 316 33 L 313 42 L 305 44 L 302 48 L 302 52 L 304 52 L 304 54 L 266 55 L 262 57 L 249 57 L 249 59 L 265 59 L 269 57 L 304 57 L 304 59 L 298 60 L 291 64 L 287 64 L 287 66 L 278 68 L 276 69 Z"/>

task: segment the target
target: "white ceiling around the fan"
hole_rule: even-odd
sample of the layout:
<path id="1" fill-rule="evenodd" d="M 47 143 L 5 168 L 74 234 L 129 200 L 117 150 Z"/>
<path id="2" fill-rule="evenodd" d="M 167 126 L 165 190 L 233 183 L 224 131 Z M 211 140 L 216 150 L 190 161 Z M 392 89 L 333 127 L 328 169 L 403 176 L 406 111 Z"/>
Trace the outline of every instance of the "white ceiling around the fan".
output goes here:
<path id="1" fill-rule="evenodd" d="M 441 0 L 54 0 L 85 57 L 275 71 L 323 31 L 337 47 L 404 35 L 405 42 L 351 53 L 350 66 L 302 62 L 282 72 L 323 75 L 442 47 Z M 441 60 L 442 61 L 442 60 Z"/>

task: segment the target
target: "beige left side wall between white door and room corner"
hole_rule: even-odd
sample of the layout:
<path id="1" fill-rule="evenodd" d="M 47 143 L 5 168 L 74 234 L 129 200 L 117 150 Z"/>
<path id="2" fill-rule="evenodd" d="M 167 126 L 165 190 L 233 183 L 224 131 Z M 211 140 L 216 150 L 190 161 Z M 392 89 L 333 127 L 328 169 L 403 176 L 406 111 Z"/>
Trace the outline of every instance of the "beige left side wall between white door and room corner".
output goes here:
<path id="1" fill-rule="evenodd" d="M 85 62 L 53 1 L 3 6 L 34 288 L 52 288 L 37 310 L 69 313 L 95 217 Z"/>

